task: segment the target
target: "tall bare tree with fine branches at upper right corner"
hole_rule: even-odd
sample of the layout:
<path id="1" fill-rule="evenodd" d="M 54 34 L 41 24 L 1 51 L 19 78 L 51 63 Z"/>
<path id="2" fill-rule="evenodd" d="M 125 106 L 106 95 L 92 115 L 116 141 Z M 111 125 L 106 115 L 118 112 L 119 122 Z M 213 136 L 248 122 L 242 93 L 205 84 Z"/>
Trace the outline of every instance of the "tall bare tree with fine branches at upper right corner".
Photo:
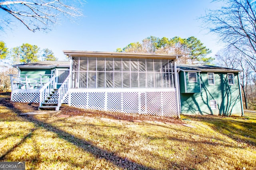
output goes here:
<path id="1" fill-rule="evenodd" d="M 256 72 L 256 2 L 255 0 L 213 0 L 224 6 L 202 17 L 210 32 L 228 46 L 238 49 Z"/>

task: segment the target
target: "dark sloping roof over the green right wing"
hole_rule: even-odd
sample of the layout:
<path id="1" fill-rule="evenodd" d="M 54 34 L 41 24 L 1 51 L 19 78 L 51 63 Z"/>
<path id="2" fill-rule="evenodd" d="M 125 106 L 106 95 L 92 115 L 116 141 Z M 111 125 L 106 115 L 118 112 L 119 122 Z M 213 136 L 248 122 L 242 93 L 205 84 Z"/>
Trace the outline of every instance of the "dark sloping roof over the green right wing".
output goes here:
<path id="1" fill-rule="evenodd" d="M 177 64 L 177 69 L 181 71 L 211 71 L 211 72 L 241 72 L 242 70 L 230 69 L 226 67 L 219 67 L 214 65 L 186 65 L 186 64 Z"/>

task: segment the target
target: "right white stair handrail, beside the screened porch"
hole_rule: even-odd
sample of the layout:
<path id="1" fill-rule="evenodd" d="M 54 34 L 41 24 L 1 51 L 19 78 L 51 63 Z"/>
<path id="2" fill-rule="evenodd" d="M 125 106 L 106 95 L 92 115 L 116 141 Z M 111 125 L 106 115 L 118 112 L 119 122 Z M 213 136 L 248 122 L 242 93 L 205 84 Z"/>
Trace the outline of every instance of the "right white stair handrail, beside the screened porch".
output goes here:
<path id="1" fill-rule="evenodd" d="M 65 79 L 65 81 L 62 83 L 60 88 L 58 89 L 58 106 L 56 108 L 56 111 L 60 109 L 60 106 L 62 102 L 65 100 L 66 96 L 68 95 L 68 85 L 70 82 L 71 74 L 68 75 L 68 77 Z"/>

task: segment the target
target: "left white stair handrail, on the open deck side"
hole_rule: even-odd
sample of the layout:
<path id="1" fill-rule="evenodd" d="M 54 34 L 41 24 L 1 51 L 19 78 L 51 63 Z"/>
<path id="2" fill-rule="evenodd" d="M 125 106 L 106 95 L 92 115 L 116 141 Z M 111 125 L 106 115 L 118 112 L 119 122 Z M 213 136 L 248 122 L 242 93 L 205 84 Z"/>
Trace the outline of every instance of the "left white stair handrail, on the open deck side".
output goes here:
<path id="1" fill-rule="evenodd" d="M 40 95 L 39 95 L 39 106 L 42 106 L 42 103 L 44 100 L 48 97 L 52 89 L 54 89 L 54 84 L 55 84 L 55 78 L 56 76 L 54 75 L 40 90 Z M 48 93 L 48 95 L 46 95 Z"/>

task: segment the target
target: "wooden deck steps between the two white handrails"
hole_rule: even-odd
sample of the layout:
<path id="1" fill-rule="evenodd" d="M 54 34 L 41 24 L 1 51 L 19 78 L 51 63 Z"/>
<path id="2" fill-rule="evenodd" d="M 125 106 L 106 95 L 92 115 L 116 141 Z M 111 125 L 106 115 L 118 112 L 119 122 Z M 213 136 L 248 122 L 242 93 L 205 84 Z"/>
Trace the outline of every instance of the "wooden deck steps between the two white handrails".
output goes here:
<path id="1" fill-rule="evenodd" d="M 38 110 L 57 110 L 58 107 L 58 89 L 52 89 L 51 93 L 41 103 L 42 106 L 38 107 Z"/>

